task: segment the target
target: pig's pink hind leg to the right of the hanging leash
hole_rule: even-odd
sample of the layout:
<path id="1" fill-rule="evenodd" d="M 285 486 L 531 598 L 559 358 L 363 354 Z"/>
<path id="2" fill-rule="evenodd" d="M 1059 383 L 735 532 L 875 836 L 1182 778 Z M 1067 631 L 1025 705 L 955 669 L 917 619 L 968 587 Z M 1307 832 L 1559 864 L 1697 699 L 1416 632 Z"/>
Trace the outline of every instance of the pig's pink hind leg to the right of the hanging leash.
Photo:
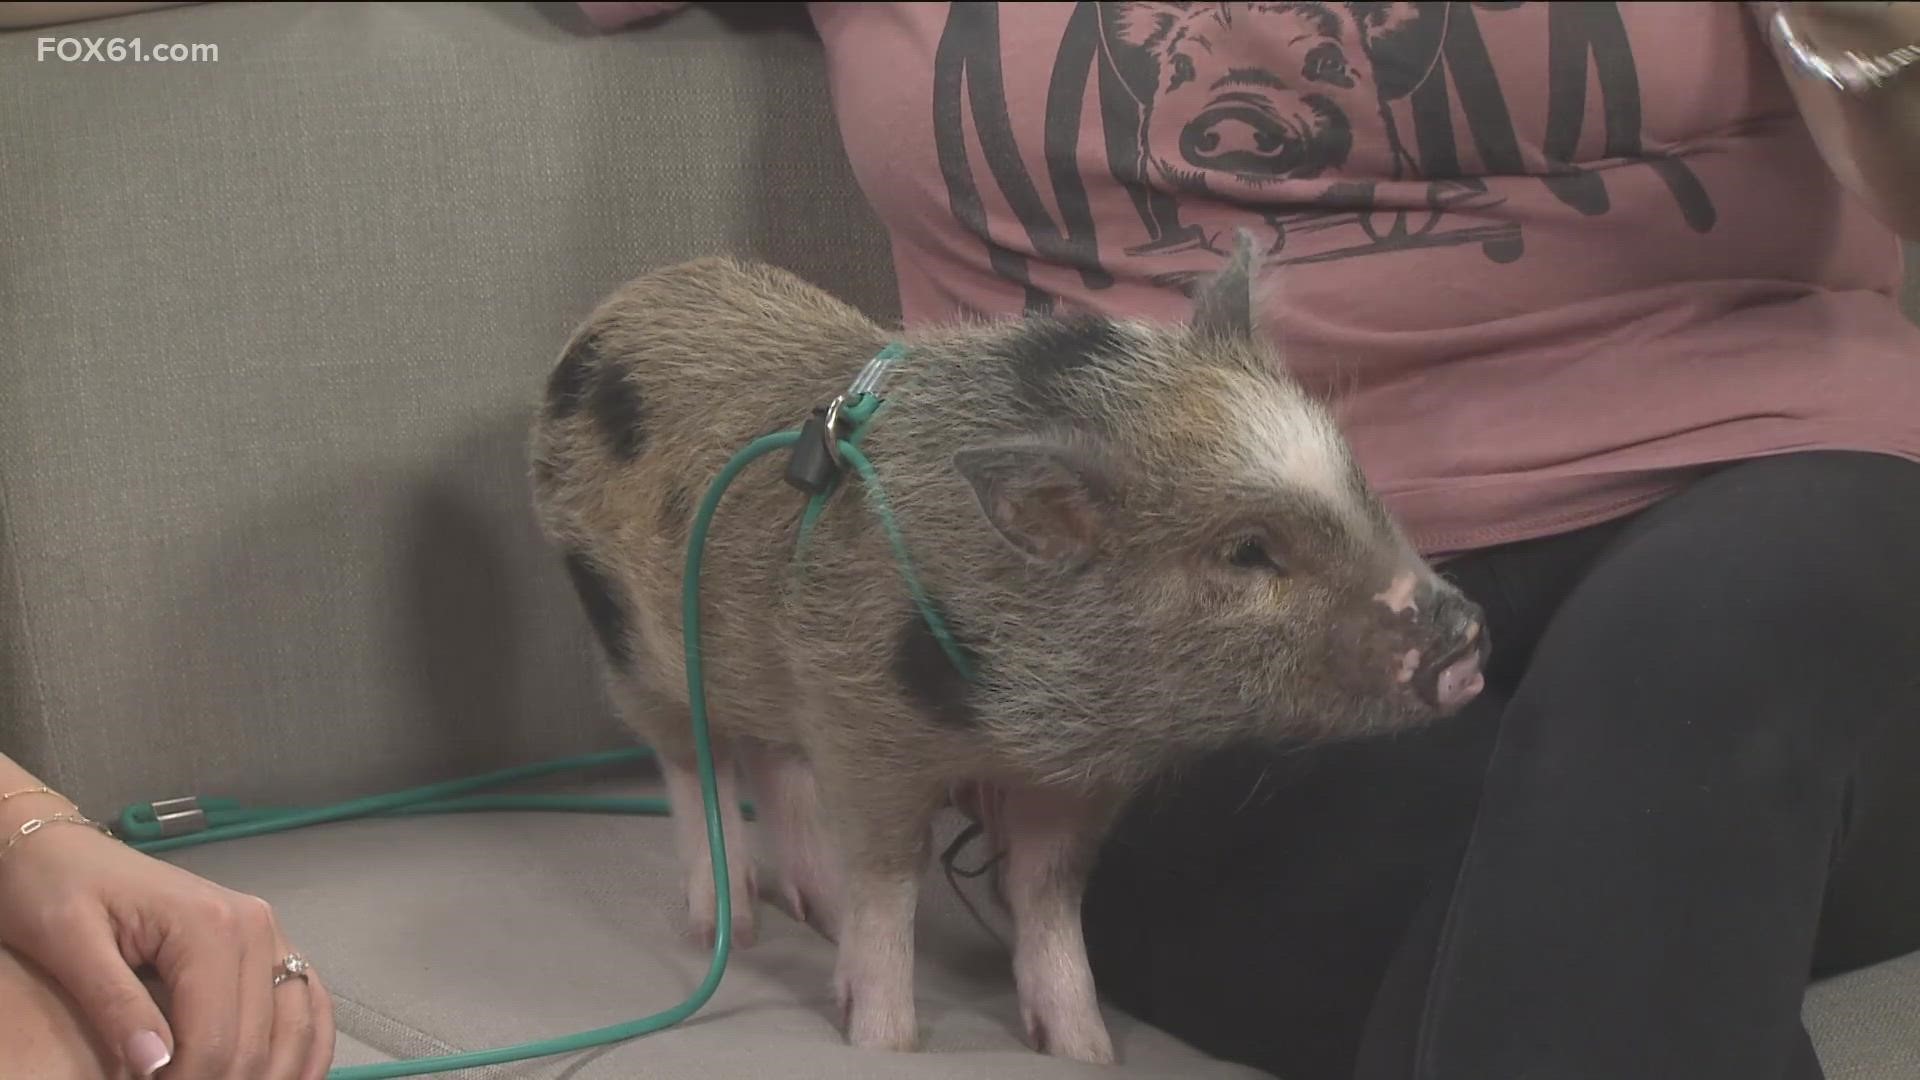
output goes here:
<path id="1" fill-rule="evenodd" d="M 743 742 L 741 765 L 753 790 L 755 817 L 768 838 L 778 882 L 774 894 L 797 922 L 829 942 L 839 934 L 841 865 L 820 821 L 812 765 L 797 749 Z"/>

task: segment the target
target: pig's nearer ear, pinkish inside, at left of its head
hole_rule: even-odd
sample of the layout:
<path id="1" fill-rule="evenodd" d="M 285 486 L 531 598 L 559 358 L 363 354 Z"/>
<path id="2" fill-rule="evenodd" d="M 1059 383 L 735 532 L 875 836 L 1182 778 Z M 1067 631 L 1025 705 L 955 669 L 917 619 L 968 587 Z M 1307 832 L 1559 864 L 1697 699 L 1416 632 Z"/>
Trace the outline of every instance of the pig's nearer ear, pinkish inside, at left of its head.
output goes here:
<path id="1" fill-rule="evenodd" d="M 981 513 L 1035 563 L 1073 571 L 1092 559 L 1112 500 L 1096 452 L 1064 442 L 1004 442 L 954 454 Z"/>

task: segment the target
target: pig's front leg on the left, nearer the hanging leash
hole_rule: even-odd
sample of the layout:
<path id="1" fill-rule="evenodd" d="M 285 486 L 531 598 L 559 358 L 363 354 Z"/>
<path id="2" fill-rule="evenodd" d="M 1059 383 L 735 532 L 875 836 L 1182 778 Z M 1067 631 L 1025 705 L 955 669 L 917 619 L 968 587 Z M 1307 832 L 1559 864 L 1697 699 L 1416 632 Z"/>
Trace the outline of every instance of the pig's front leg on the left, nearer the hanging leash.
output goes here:
<path id="1" fill-rule="evenodd" d="M 935 794 L 899 773 L 816 761 L 820 803 L 845 859 L 833 999 L 847 1042 L 912 1051 L 914 907 Z"/>

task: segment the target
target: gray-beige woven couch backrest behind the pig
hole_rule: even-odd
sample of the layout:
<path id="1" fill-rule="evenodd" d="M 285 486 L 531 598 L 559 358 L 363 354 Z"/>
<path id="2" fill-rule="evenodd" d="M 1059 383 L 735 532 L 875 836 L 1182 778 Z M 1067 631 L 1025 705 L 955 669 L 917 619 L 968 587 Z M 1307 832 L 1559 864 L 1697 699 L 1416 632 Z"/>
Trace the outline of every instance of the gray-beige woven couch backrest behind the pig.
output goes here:
<path id="1" fill-rule="evenodd" d="M 607 744 L 524 482 L 566 332 L 722 252 L 893 309 L 818 44 L 749 15 L 607 38 L 524 4 L 213 4 L 75 31 L 219 44 L 200 65 L 0 37 L 8 748 L 119 801 Z"/>

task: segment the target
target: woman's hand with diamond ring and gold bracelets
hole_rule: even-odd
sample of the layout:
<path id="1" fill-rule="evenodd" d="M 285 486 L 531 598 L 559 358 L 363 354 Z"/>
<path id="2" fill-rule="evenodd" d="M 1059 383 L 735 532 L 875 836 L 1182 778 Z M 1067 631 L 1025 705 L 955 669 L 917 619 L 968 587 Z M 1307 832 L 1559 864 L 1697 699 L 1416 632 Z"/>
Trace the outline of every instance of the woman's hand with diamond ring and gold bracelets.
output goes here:
<path id="1" fill-rule="evenodd" d="M 21 801 L 6 807 L 0 836 L 67 811 Z M 0 942 L 67 992 L 132 1076 L 165 1067 L 165 1080 L 323 1080 L 332 1063 L 319 978 L 273 984 L 294 947 L 265 901 L 90 828 L 48 824 L 0 859 Z"/>

